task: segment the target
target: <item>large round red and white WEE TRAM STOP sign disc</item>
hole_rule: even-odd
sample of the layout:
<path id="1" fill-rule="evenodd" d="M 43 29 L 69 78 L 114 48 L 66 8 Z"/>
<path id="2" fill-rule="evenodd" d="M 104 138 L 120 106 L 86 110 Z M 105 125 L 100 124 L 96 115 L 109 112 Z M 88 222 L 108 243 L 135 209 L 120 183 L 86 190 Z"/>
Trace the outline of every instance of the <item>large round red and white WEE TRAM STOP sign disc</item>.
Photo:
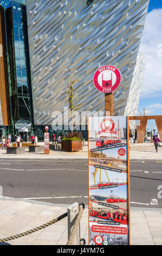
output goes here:
<path id="1" fill-rule="evenodd" d="M 102 93 L 112 93 L 121 83 L 121 73 L 115 66 L 101 66 L 93 77 L 94 86 Z"/>

